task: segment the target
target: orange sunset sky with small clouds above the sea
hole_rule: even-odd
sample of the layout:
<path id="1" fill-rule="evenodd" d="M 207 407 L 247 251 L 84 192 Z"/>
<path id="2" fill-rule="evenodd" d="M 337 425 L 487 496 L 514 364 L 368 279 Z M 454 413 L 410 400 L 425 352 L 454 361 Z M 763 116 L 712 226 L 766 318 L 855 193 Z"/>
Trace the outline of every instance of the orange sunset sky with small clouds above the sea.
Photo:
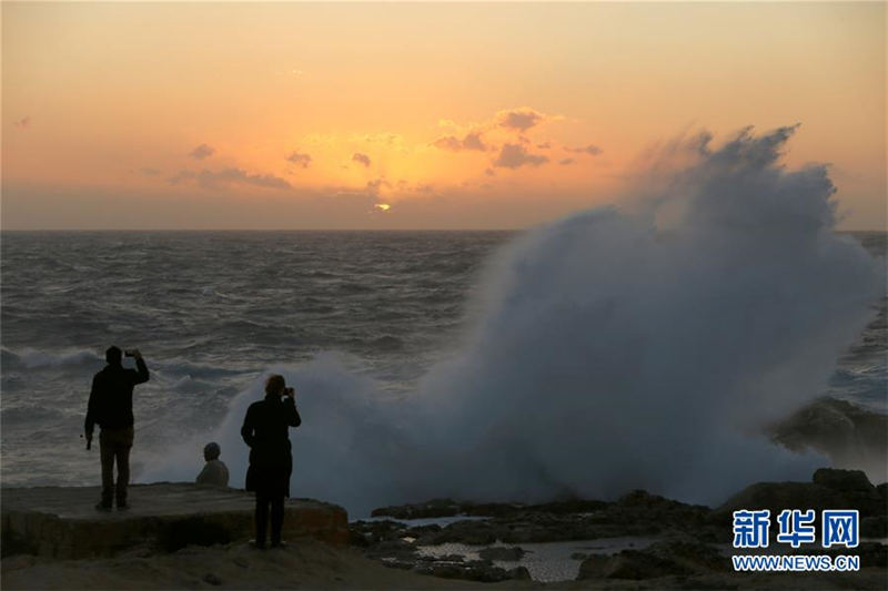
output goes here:
<path id="1" fill-rule="evenodd" d="M 2 3 L 3 228 L 522 227 L 800 122 L 886 226 L 882 3 Z M 387 206 L 387 211 L 383 211 Z"/>

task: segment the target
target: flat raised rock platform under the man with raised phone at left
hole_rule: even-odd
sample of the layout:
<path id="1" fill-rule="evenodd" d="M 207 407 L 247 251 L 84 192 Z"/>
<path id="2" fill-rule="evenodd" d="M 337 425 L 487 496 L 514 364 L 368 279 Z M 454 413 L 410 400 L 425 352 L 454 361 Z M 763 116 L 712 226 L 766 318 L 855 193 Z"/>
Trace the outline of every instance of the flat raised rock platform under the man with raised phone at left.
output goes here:
<path id="1" fill-rule="evenodd" d="M 138 546 L 175 551 L 254 537 L 251 492 L 188 482 L 133 485 L 130 509 L 99 511 L 99 487 L 0 489 L 3 556 L 29 552 L 77 559 L 111 556 Z M 336 505 L 289 499 L 284 540 L 349 541 L 349 517 Z"/>

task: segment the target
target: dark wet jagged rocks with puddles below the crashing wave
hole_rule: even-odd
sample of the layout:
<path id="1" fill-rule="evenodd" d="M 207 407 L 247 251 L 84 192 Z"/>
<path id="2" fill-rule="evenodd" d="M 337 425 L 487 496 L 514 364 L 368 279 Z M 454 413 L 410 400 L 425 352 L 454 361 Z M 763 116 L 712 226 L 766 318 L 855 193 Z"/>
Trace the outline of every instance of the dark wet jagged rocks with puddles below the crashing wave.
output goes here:
<path id="1" fill-rule="evenodd" d="M 725 573 L 736 577 L 726 553 L 733 540 L 734 510 L 770 509 L 770 533 L 775 537 L 776 518 L 783 509 L 857 509 L 861 537 L 885 538 L 887 496 L 888 485 L 872 486 L 862 471 L 821 468 L 810 482 L 759 482 L 715 509 L 642 490 L 613 502 L 575 499 L 545 505 L 480 505 L 436 499 L 375 510 L 376 519 L 351 524 L 351 542 L 389 567 L 437 577 L 500 581 L 528 578 L 526 569 L 518 564 L 525 552 L 521 544 L 637 536 L 658 541 L 644 549 L 624 549 L 609 556 L 572 557 L 583 561 L 578 578 L 646 580 Z M 410 524 L 410 520 L 420 518 L 456 521 Z M 443 543 L 476 547 L 481 560 L 435 557 L 422 550 Z M 497 546 L 491 547 L 493 543 Z M 504 548 L 502 543 L 512 546 Z M 861 542 L 856 553 L 864 568 L 888 567 L 888 551 L 881 543 Z"/>

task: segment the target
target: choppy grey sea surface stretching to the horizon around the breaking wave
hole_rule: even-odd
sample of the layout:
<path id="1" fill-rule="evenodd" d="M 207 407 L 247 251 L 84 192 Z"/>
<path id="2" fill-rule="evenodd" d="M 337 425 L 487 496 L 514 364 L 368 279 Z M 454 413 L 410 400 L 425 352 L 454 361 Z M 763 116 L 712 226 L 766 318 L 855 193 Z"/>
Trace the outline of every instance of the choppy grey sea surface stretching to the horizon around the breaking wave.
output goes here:
<path id="1" fill-rule="evenodd" d="M 93 485 L 80 435 L 92 375 L 141 349 L 134 479 L 152 455 L 211 432 L 273 366 L 339 351 L 410 396 L 465 328 L 508 232 L 4 232 L 0 242 L 0 478 Z M 885 256 L 885 233 L 857 233 Z M 888 410 L 886 302 L 823 393 Z M 717 327 L 714 327 L 717 329 Z M 127 363 L 131 363 L 128 360 Z M 195 473 L 201 463 L 195 450 Z"/>

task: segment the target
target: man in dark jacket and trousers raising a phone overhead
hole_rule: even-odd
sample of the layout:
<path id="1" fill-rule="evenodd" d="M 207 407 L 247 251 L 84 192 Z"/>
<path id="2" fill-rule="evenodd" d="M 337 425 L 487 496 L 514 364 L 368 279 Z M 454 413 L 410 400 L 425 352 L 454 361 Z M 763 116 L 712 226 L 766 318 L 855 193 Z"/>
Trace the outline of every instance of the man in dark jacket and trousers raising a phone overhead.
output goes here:
<path id="1" fill-rule="evenodd" d="M 121 350 L 111 346 L 104 351 L 108 365 L 92 378 L 92 390 L 87 408 L 84 430 L 87 449 L 92 444 L 94 425 L 102 428 L 99 448 L 102 457 L 102 499 L 97 509 L 111 509 L 117 498 L 118 509 L 127 509 L 127 486 L 130 483 L 130 449 L 133 438 L 132 388 L 148 381 L 148 367 L 138 349 L 128 350 L 135 357 L 138 369 L 125 369 L 121 364 Z M 118 465 L 118 481 L 114 486 L 114 461 Z"/>

